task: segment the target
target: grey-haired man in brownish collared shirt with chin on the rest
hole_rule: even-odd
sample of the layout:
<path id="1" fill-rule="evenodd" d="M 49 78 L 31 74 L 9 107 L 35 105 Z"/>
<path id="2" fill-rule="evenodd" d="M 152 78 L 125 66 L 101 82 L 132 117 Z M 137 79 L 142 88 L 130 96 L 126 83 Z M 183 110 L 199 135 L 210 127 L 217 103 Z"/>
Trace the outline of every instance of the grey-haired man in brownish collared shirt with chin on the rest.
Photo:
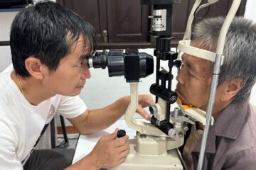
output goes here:
<path id="1" fill-rule="evenodd" d="M 215 52 L 224 18 L 196 25 L 192 46 Z M 256 108 L 249 102 L 256 81 L 256 25 L 234 18 L 225 40 L 203 169 L 255 169 Z M 176 92 L 182 103 L 206 111 L 213 62 L 184 54 Z M 181 148 L 187 169 L 196 169 L 203 126 L 193 125 Z"/>

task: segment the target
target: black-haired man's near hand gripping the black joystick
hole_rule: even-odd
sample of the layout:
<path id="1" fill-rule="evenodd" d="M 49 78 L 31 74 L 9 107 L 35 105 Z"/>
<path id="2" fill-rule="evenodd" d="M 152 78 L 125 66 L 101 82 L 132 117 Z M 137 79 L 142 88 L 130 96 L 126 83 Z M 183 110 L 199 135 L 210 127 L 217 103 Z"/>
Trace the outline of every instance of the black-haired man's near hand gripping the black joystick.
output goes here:
<path id="1" fill-rule="evenodd" d="M 92 164 L 97 169 L 109 169 L 125 161 L 129 154 L 129 137 L 117 138 L 116 129 L 112 134 L 100 138 L 90 152 Z"/>

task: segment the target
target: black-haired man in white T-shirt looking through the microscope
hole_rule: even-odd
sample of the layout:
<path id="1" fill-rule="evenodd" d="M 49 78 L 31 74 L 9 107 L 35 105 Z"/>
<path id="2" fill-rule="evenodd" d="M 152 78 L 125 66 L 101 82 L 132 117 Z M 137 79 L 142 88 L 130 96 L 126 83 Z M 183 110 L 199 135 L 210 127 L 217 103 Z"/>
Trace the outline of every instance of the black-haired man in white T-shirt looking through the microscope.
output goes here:
<path id="1" fill-rule="evenodd" d="M 96 47 L 90 23 L 53 1 L 40 1 L 14 18 L 10 45 L 12 64 L 0 74 L 0 169 L 100 169 L 124 162 L 128 137 L 117 138 L 117 130 L 71 166 L 65 154 L 31 152 L 56 112 L 90 134 L 112 125 L 129 104 L 125 96 L 89 110 L 78 96 L 91 77 L 87 57 Z M 154 103 L 151 96 L 140 96 L 139 103 L 137 112 L 149 119 L 142 108 Z"/>

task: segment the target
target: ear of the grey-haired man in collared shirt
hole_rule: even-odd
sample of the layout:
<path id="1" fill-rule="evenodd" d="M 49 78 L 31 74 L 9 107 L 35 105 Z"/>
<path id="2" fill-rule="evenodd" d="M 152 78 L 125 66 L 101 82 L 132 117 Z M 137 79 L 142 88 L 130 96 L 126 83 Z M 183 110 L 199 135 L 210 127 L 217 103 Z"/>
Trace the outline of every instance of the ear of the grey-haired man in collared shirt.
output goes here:
<path id="1" fill-rule="evenodd" d="M 233 79 L 224 83 L 221 101 L 230 101 L 242 88 L 242 80 Z"/>

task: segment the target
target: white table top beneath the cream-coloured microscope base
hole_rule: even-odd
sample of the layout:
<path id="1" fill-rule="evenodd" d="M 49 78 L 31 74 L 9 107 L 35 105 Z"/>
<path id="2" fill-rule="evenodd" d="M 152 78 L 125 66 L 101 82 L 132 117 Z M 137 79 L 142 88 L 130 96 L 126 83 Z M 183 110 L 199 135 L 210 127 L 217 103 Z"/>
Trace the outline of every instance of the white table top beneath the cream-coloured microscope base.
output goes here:
<path id="1" fill-rule="evenodd" d="M 178 152 L 176 149 L 169 150 L 168 151 L 169 154 L 167 154 L 164 157 L 161 157 L 161 156 L 146 157 L 146 159 L 144 156 L 135 157 L 135 155 L 137 154 L 133 149 L 133 147 L 131 147 L 131 142 L 132 142 L 132 139 L 134 139 L 136 136 L 136 131 L 130 129 L 126 125 L 125 120 L 117 120 L 117 122 L 111 125 L 110 128 L 107 128 L 106 130 L 103 130 L 101 132 L 97 132 L 92 135 L 80 135 L 78 139 L 78 145 L 75 149 L 73 164 L 75 162 L 78 162 L 78 160 L 82 159 L 87 154 L 89 154 L 92 151 L 93 147 L 96 145 L 97 141 L 100 140 L 100 137 L 114 132 L 116 128 L 125 130 L 127 135 L 129 136 L 131 157 L 129 158 L 129 161 L 127 161 L 127 163 L 124 162 L 122 164 L 122 167 L 118 166 L 118 167 L 115 167 L 114 169 L 124 169 L 124 166 L 125 166 L 125 169 L 137 169 L 139 166 L 139 169 L 143 169 L 143 170 L 149 170 L 149 169 L 150 170 L 152 169 L 182 170 L 183 169 L 183 166 L 181 165 L 181 160 L 178 156 Z M 132 143 L 133 143 L 132 145 L 134 145 L 134 141 Z"/>

